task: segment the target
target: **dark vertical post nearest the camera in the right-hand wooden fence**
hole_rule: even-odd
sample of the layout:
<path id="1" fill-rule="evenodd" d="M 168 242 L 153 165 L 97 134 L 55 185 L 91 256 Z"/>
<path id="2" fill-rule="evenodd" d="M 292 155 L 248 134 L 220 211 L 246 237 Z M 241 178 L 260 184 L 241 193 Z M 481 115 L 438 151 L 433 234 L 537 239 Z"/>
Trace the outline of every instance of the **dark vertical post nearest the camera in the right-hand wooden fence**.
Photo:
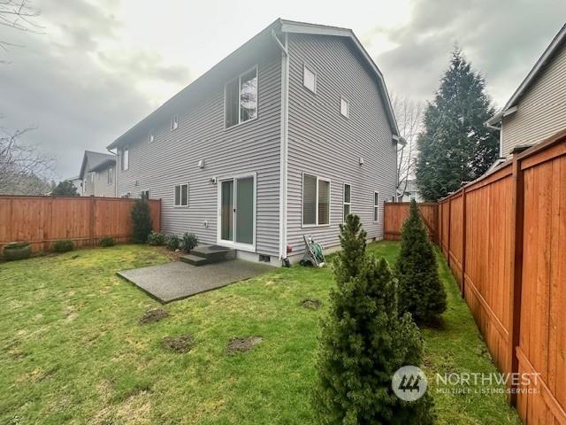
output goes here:
<path id="1" fill-rule="evenodd" d="M 509 296 L 509 367 L 510 372 L 519 370 L 516 347 L 519 344 L 521 326 L 521 292 L 523 288 L 523 233 L 524 233 L 524 175 L 521 160 L 513 156 L 513 193 L 511 215 L 511 277 Z M 512 388 L 512 387 L 511 387 Z M 516 406 L 516 393 L 511 391 L 509 403 Z"/>

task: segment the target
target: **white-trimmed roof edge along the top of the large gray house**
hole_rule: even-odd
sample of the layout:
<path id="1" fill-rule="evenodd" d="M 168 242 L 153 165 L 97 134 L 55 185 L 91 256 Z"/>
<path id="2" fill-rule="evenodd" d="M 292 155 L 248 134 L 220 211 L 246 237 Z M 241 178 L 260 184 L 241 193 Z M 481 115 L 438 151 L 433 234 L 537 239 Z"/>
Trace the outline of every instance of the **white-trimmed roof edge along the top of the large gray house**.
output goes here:
<path id="1" fill-rule="evenodd" d="M 399 140 L 400 138 L 399 128 L 397 128 L 397 121 L 395 120 L 393 106 L 391 105 L 391 99 L 389 98 L 389 94 L 387 93 L 386 83 L 384 81 L 383 74 L 379 71 L 378 66 L 375 65 L 375 62 L 373 62 L 373 59 L 371 59 L 368 52 L 365 49 L 363 49 L 362 43 L 357 39 L 356 35 L 354 35 L 354 32 L 351 29 L 309 24 L 305 22 L 297 22 L 294 20 L 287 20 L 287 19 L 276 19 L 271 25 L 265 27 L 262 31 L 260 31 L 254 37 L 252 37 L 248 42 L 245 42 L 238 49 L 234 50 L 230 55 L 228 55 L 226 58 L 218 62 L 217 65 L 212 66 L 209 71 L 203 73 L 203 75 L 201 75 L 195 81 L 190 83 L 185 89 L 180 90 L 179 93 L 177 93 L 171 99 L 167 100 L 164 104 L 159 106 L 157 110 L 151 112 L 146 118 L 144 118 L 142 121 L 137 123 L 133 128 L 130 128 L 129 130 L 126 131 L 126 133 L 120 135 L 119 138 L 117 138 L 114 142 L 108 145 L 107 149 L 115 149 L 119 145 L 125 144 L 126 139 L 128 139 L 130 135 L 139 134 L 141 128 L 148 127 L 149 130 L 149 123 L 151 123 L 153 120 L 157 120 L 157 118 L 161 117 L 161 115 L 165 117 L 167 113 L 170 113 L 169 110 L 172 108 L 173 105 L 183 104 L 184 100 L 190 99 L 193 96 L 193 93 L 196 91 L 196 86 L 202 84 L 203 81 L 212 78 L 213 75 L 218 74 L 218 72 L 225 66 L 228 66 L 228 64 L 230 64 L 231 61 L 242 52 L 242 50 L 245 50 L 252 43 L 258 42 L 260 39 L 264 37 L 269 37 L 266 39 L 271 40 L 273 30 L 280 31 L 283 33 L 289 33 L 289 34 L 294 33 L 294 34 L 310 34 L 310 35 L 330 35 L 336 37 L 343 37 L 350 40 L 353 43 L 353 45 L 356 47 L 356 50 L 358 50 L 358 52 L 360 53 L 360 56 L 363 59 L 363 61 L 366 63 L 367 66 L 369 66 L 371 72 L 374 74 L 376 78 L 379 87 L 379 93 L 383 98 L 383 104 L 385 106 L 386 116 L 387 116 L 387 120 L 389 121 L 391 132 L 394 135 L 394 139 Z"/>

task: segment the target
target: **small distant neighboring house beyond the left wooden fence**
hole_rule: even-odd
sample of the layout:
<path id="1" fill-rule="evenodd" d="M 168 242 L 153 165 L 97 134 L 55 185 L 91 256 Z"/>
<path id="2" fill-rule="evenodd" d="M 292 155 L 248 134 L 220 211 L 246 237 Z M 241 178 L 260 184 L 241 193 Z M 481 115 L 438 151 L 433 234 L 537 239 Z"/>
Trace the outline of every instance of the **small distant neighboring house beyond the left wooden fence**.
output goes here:
<path id="1" fill-rule="evenodd" d="M 85 151 L 79 179 L 83 197 L 116 197 L 116 156 Z"/>

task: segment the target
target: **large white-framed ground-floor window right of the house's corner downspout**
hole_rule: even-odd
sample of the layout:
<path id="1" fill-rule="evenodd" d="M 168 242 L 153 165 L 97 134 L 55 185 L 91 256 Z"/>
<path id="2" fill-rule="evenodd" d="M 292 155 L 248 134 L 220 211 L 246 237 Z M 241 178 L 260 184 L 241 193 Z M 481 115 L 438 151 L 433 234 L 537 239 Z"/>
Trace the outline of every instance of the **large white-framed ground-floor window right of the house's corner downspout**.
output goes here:
<path id="1" fill-rule="evenodd" d="M 302 225 L 330 223 L 330 181 L 311 174 L 302 176 Z"/>

